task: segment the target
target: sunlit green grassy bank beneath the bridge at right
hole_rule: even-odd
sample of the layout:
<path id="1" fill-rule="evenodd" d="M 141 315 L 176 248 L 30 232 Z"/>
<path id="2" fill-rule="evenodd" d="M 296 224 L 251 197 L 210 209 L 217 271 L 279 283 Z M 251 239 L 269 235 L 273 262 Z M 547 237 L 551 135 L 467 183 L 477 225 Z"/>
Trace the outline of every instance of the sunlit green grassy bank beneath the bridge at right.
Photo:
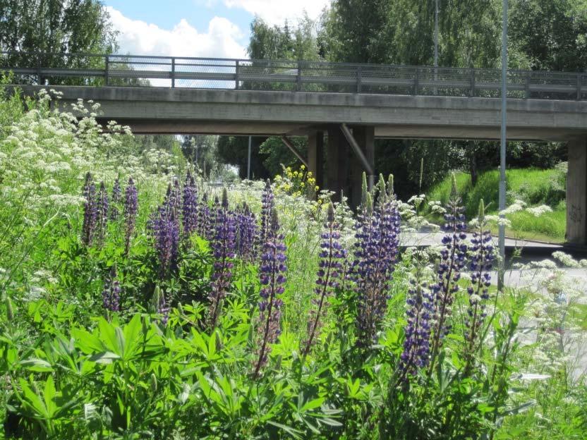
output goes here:
<path id="1" fill-rule="evenodd" d="M 480 173 L 477 185 L 473 187 L 471 176 L 462 172 L 456 173 L 456 185 L 461 193 L 467 218 L 476 216 L 481 199 L 485 202 L 486 212 L 497 213 L 499 177 L 498 171 L 485 171 Z M 528 207 L 547 204 L 552 208 L 552 212 L 540 217 L 529 212 L 510 214 L 508 219 L 512 222 L 512 228 L 506 231 L 507 234 L 515 238 L 563 242 L 567 224 L 564 171 L 510 169 L 507 170 L 506 178 L 508 204 L 514 200 L 524 200 Z M 428 192 L 429 199 L 447 202 L 451 186 L 451 178 L 445 178 Z"/>

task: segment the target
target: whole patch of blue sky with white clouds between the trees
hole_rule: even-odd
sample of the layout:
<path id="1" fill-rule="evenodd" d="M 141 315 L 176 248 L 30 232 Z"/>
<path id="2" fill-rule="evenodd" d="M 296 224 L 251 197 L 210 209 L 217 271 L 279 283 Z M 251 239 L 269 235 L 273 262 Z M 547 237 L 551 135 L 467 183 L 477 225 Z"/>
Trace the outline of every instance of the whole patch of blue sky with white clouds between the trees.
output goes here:
<path id="1" fill-rule="evenodd" d="M 103 0 L 119 53 L 247 58 L 250 22 L 320 16 L 329 0 Z"/>

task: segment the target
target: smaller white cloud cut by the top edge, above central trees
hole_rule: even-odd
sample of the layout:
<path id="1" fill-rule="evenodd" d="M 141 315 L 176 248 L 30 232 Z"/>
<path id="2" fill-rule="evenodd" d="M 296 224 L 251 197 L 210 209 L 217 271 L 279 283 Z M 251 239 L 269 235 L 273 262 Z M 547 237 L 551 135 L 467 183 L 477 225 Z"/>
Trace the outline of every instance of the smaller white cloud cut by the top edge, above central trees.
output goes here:
<path id="1" fill-rule="evenodd" d="M 282 25 L 285 20 L 296 21 L 303 12 L 313 20 L 320 17 L 329 0 L 224 0 L 229 8 L 241 8 L 273 25 Z"/>

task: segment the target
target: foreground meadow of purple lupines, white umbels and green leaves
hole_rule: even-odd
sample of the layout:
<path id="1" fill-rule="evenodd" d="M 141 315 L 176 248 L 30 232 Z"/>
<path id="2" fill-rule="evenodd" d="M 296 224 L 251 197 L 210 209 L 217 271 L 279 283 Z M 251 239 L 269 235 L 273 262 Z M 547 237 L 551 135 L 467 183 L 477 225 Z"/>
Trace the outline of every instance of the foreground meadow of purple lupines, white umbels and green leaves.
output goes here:
<path id="1" fill-rule="evenodd" d="M 212 188 L 49 99 L 0 99 L 0 438 L 585 438 L 583 292 L 497 292 L 462 176 L 406 248 L 391 176 L 356 215 L 303 170 Z"/>

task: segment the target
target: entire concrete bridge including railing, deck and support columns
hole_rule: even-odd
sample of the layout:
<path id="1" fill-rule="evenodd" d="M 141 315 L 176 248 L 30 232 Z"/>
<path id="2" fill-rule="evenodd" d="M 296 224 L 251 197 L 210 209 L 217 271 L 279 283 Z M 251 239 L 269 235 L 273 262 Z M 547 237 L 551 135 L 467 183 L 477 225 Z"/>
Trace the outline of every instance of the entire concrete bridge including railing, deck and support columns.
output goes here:
<path id="1" fill-rule="evenodd" d="M 288 136 L 308 136 L 301 159 L 351 200 L 363 171 L 375 174 L 375 138 L 500 138 L 498 70 L 114 55 L 71 68 L 56 66 L 82 55 L 15 56 L 4 54 L 0 70 L 36 82 L 26 93 L 75 80 L 52 85 L 61 106 L 92 99 L 101 121 L 135 133 L 280 135 L 289 147 Z M 567 142 L 567 241 L 587 245 L 587 73 L 509 71 L 507 90 L 509 140 Z"/>

